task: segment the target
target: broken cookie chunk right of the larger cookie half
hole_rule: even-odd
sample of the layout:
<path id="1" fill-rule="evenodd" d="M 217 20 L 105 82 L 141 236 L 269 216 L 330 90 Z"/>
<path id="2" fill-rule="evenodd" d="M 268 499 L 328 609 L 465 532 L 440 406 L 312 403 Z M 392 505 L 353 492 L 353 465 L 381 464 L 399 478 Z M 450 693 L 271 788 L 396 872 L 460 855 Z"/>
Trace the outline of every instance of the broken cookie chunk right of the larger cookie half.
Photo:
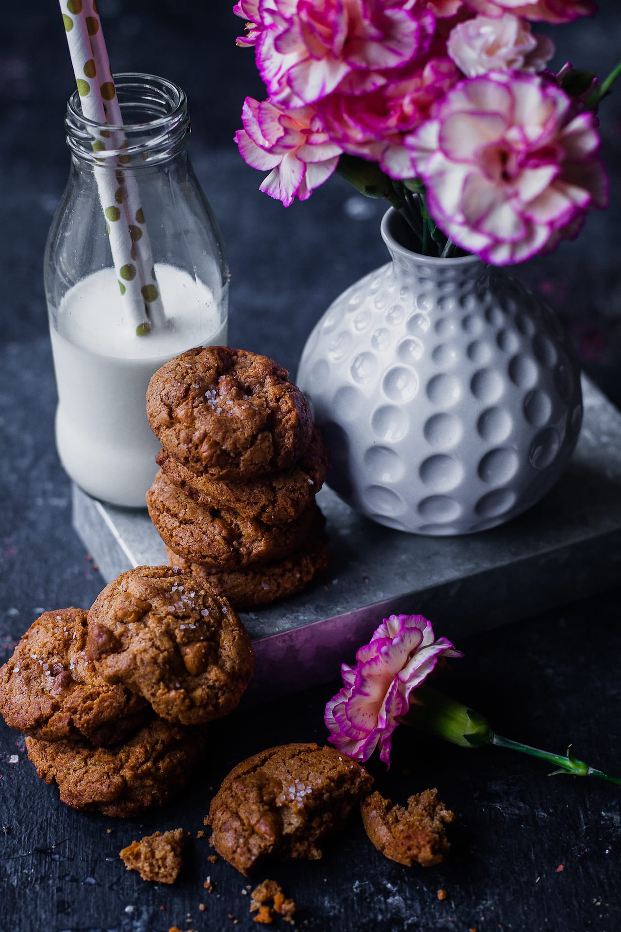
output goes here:
<path id="1" fill-rule="evenodd" d="M 360 811 L 371 842 L 398 864 L 412 867 L 418 862 L 428 868 L 440 864 L 449 852 L 444 826 L 454 816 L 439 802 L 437 789 L 411 796 L 407 809 L 374 792 L 362 802 Z"/>

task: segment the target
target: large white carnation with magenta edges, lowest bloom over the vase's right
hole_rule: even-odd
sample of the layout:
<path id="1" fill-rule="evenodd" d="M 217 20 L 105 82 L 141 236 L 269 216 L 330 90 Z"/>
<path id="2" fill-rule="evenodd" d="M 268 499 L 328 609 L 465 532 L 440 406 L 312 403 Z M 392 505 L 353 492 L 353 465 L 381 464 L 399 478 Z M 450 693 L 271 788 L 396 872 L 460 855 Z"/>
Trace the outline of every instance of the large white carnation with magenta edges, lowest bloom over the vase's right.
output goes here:
<path id="1" fill-rule="evenodd" d="M 492 72 L 455 85 L 406 137 L 440 229 L 503 266 L 573 237 L 607 200 L 591 113 L 538 75 Z"/>

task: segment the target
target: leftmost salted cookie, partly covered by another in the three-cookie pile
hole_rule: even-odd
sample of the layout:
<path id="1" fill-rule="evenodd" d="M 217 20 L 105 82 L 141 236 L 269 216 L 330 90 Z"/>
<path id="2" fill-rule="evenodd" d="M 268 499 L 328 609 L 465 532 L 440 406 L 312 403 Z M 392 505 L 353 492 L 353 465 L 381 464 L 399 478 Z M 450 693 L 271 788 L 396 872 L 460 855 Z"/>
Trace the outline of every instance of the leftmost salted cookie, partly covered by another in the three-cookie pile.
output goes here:
<path id="1" fill-rule="evenodd" d="M 135 732 L 148 705 L 109 685 L 88 659 L 82 609 L 45 611 L 0 667 L 0 713 L 7 725 L 42 741 L 112 745 Z"/>

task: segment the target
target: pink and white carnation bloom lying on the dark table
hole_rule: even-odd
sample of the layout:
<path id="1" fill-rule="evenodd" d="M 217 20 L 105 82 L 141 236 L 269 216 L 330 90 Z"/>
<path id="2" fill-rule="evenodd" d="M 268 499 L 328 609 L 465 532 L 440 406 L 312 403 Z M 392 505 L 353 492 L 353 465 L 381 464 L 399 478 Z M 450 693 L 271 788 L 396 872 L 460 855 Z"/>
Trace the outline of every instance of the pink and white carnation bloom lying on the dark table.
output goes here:
<path id="1" fill-rule="evenodd" d="M 381 747 L 390 765 L 392 733 L 410 707 L 411 693 L 440 657 L 462 657 L 446 637 L 434 640 L 422 615 L 391 615 L 371 642 L 356 654 L 357 664 L 341 667 L 344 687 L 326 706 L 331 744 L 355 761 L 367 761 Z"/>

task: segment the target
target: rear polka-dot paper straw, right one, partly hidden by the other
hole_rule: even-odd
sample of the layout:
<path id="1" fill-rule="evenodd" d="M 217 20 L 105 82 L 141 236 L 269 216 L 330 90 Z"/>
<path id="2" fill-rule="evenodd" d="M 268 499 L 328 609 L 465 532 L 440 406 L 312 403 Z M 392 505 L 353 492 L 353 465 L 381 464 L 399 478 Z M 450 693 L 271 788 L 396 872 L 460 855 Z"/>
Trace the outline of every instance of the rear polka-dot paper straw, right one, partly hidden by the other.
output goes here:
<path id="1" fill-rule="evenodd" d="M 96 77 L 99 83 L 106 122 L 114 124 L 115 126 L 122 126 L 123 117 L 121 116 L 121 108 L 116 96 L 115 81 L 108 60 L 108 50 L 103 38 L 101 20 L 97 9 L 97 0 L 82 0 L 82 2 L 84 8 L 90 13 L 90 15 L 87 16 L 87 24 L 93 58 L 89 71 L 93 72 L 93 77 Z M 127 144 L 125 134 L 115 134 L 115 148 L 124 148 L 124 144 Z M 163 323 L 165 321 L 164 308 L 162 307 L 159 289 L 155 279 L 151 240 L 149 239 L 149 233 L 145 226 L 145 217 L 142 210 L 138 183 L 131 171 L 123 170 L 122 168 L 119 168 L 119 171 L 117 171 L 116 179 L 120 185 L 116 194 L 122 198 L 128 218 L 129 232 L 133 242 L 132 255 L 136 259 L 138 275 L 141 282 L 141 294 L 144 301 L 146 301 L 149 306 L 151 322 Z"/>

